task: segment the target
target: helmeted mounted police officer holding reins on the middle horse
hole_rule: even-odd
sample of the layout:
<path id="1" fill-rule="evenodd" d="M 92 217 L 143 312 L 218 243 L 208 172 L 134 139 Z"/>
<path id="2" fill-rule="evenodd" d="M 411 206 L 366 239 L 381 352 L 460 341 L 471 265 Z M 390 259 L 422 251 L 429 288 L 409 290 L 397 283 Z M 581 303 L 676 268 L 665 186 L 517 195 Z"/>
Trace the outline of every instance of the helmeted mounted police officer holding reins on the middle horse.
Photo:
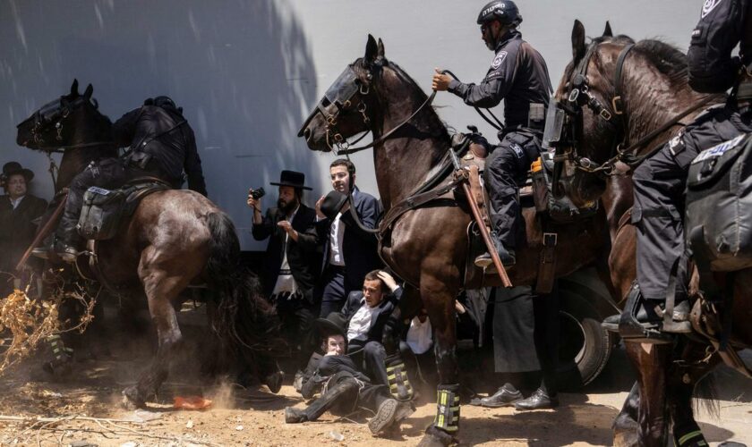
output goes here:
<path id="1" fill-rule="evenodd" d="M 543 56 L 517 30 L 522 15 L 514 2 L 494 0 L 486 4 L 477 22 L 483 42 L 496 54 L 485 78 L 480 84 L 465 84 L 437 70 L 432 87 L 449 90 L 476 107 L 489 108 L 504 100 L 506 125 L 499 132 L 500 146 L 486 160 L 483 176 L 489 186 L 499 256 L 505 266 L 512 266 L 517 236 L 525 231 L 517 185 L 526 180 L 530 164 L 540 153 L 543 107 L 551 94 L 551 80 Z M 491 266 L 491 256 L 477 257 L 475 265 Z"/>

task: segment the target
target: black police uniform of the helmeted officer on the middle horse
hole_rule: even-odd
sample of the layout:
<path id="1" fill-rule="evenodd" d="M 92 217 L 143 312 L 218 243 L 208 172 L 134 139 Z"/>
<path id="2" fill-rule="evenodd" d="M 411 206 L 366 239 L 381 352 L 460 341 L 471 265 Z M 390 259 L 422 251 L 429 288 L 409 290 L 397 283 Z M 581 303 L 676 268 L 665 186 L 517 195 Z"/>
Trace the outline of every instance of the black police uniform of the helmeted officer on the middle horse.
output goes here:
<path id="1" fill-rule="evenodd" d="M 543 56 L 530 46 L 517 30 L 510 30 L 496 46 L 491 68 L 480 84 L 449 82 L 449 91 L 467 105 L 489 108 L 504 99 L 506 126 L 500 131 L 500 146 L 486 159 L 483 179 L 491 197 L 491 223 L 499 240 L 514 249 L 522 215 L 517 185 L 526 181 L 530 164 L 541 150 L 543 128 L 530 129 L 530 105 L 548 104 L 551 80 Z"/>

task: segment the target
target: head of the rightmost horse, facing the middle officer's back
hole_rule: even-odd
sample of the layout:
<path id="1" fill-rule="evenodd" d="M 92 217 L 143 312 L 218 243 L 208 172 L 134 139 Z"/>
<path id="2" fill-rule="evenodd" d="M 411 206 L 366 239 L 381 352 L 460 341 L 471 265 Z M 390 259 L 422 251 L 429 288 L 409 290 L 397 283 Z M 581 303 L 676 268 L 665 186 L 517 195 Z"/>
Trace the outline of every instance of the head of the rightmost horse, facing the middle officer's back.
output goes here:
<path id="1" fill-rule="evenodd" d="M 575 21 L 573 59 L 554 93 L 543 139 L 556 149 L 554 193 L 566 194 L 579 207 L 602 195 L 611 173 L 602 164 L 616 155 L 627 131 L 615 72 L 630 44 L 630 38 L 614 38 L 606 23 L 602 37 L 585 45 L 585 27 Z"/>

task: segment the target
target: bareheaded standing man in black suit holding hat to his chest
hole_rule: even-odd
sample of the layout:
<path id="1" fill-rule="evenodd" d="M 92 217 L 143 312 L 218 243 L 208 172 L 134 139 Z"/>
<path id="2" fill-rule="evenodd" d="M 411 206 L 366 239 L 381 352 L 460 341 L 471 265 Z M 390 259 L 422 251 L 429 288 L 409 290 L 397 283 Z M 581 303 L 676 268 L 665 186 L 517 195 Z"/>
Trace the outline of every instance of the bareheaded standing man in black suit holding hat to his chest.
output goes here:
<path id="1" fill-rule="evenodd" d="M 361 223 L 375 229 L 380 215 L 379 201 L 355 187 L 355 164 L 339 158 L 329 165 L 329 174 L 332 189 L 341 194 L 352 193 Z M 365 274 L 382 266 L 376 235 L 363 231 L 355 223 L 349 203 L 327 215 L 321 210 L 323 202 L 324 197 L 316 202 L 316 232 L 324 247 L 322 278 L 316 291 L 322 317 L 341 309 L 350 291 L 363 285 Z"/>

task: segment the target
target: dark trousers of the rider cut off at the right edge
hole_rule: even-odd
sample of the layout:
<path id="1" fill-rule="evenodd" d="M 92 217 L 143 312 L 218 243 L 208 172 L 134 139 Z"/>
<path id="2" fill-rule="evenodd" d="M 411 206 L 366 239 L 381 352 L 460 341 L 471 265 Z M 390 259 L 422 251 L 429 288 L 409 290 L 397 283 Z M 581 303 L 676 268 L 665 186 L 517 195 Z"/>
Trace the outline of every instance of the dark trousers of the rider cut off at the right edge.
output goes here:
<path id="1" fill-rule="evenodd" d="M 752 114 L 727 105 L 697 117 L 632 176 L 637 228 L 637 283 L 645 299 L 664 300 L 671 267 L 684 253 L 684 189 L 689 164 L 703 150 L 752 131 Z M 686 294 L 685 262 L 679 264 L 677 299 Z"/>

